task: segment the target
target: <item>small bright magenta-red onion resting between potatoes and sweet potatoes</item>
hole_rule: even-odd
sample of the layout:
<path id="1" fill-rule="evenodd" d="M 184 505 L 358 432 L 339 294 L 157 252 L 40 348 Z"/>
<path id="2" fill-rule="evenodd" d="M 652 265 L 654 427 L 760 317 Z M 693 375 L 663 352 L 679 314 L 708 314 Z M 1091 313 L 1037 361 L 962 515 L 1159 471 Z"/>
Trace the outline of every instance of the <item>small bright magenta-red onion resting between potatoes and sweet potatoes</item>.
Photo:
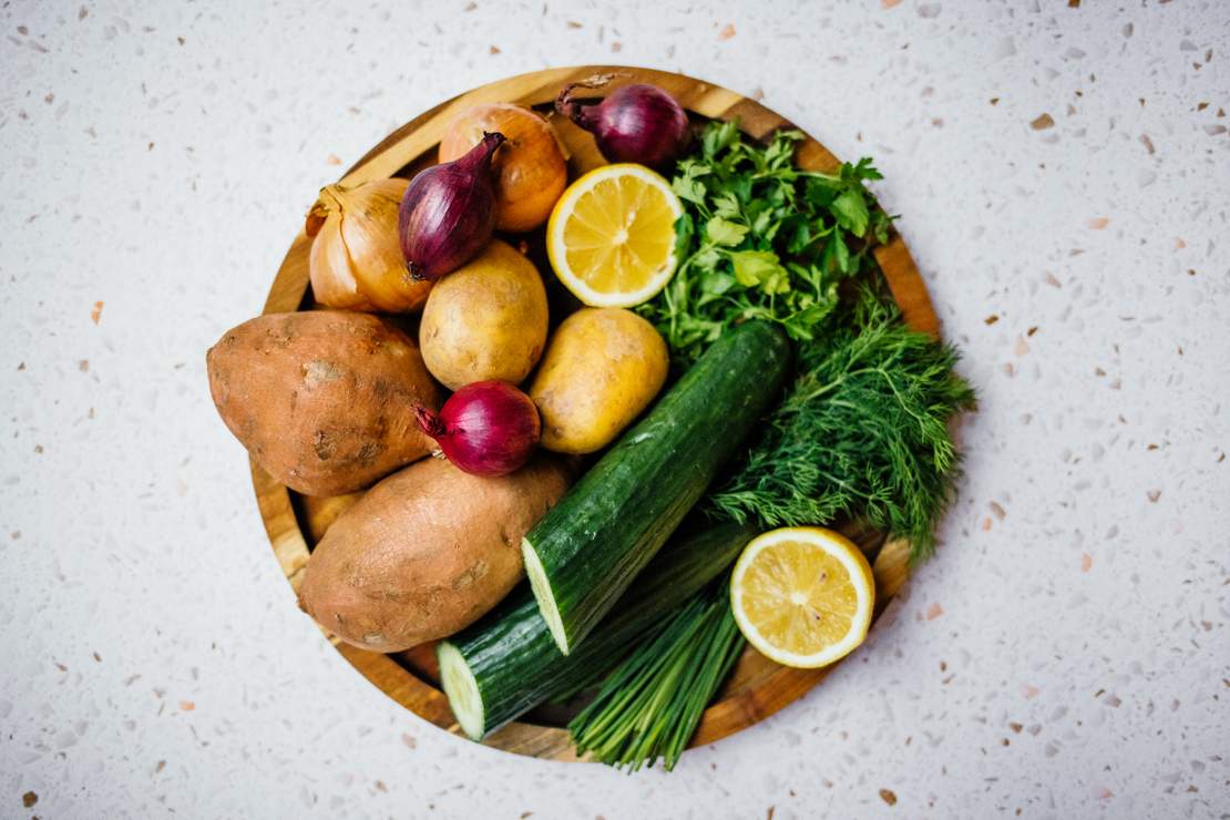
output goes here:
<path id="1" fill-rule="evenodd" d="M 507 381 L 476 381 L 453 393 L 439 413 L 419 406 L 415 416 L 440 452 L 475 476 L 513 472 L 542 432 L 534 401 Z"/>

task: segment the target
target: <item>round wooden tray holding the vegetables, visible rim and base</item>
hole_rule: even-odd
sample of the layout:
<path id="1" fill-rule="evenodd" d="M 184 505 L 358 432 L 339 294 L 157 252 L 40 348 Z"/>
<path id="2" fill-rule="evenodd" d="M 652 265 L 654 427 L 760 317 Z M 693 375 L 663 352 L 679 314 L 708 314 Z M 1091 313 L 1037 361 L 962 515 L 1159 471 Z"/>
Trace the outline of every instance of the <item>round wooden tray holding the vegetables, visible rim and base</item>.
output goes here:
<path id="1" fill-rule="evenodd" d="M 440 134 L 462 108 L 480 102 L 518 102 L 547 113 L 565 84 L 595 74 L 616 74 L 603 92 L 595 93 L 606 93 L 629 82 L 649 82 L 669 91 L 694 114 L 724 120 L 737 118 L 743 132 L 755 139 L 764 139 L 780 128 L 792 128 L 786 119 L 754 100 L 679 74 L 606 65 L 550 69 L 499 80 L 435 106 L 390 134 L 347 171 L 341 181 L 353 184 L 391 176 L 412 176 L 421 167 L 435 162 Z M 604 164 L 589 134 L 560 117 L 552 117 L 552 123 L 571 155 L 569 178 Z M 840 165 L 833 154 L 811 138 L 800 144 L 797 159 L 803 167 L 823 171 L 831 171 Z M 305 213 L 310 204 L 305 202 Z M 308 278 L 309 246 L 310 240 L 300 231 L 278 269 L 263 312 L 312 306 Z M 936 334 L 937 320 L 926 286 L 902 239 L 893 235 L 888 245 L 876 248 L 876 259 L 907 322 L 916 329 Z M 298 589 L 311 547 L 359 494 L 327 499 L 300 497 L 277 483 L 255 463 L 252 481 L 273 552 L 290 585 Z M 878 617 L 908 575 L 909 545 L 900 540 L 886 542 L 882 535 L 857 526 L 843 530 L 873 559 Z M 439 690 L 433 645 L 384 655 L 357 649 L 332 636 L 330 638 L 337 650 L 389 697 L 424 720 L 460 734 L 448 698 Z M 824 680 L 834 666 L 815 670 L 787 669 L 749 647 L 726 686 L 705 711 L 691 746 L 713 743 L 763 720 L 802 697 Z M 556 725 L 549 725 L 550 723 Z M 560 714 L 540 709 L 531 712 L 525 720 L 496 731 L 483 743 L 520 755 L 574 761 L 577 756 L 561 725 Z"/>

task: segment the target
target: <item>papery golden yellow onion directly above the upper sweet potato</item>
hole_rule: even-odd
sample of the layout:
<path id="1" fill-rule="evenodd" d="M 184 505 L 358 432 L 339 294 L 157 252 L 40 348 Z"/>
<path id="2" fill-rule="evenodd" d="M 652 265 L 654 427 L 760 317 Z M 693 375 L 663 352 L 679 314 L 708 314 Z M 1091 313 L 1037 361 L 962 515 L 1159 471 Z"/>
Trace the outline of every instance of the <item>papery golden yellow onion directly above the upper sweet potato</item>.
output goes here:
<path id="1" fill-rule="evenodd" d="M 400 313 L 427 301 L 430 282 L 406 269 L 397 209 L 410 183 L 376 179 L 321 188 L 308 214 L 308 269 L 316 301 L 342 310 Z"/>

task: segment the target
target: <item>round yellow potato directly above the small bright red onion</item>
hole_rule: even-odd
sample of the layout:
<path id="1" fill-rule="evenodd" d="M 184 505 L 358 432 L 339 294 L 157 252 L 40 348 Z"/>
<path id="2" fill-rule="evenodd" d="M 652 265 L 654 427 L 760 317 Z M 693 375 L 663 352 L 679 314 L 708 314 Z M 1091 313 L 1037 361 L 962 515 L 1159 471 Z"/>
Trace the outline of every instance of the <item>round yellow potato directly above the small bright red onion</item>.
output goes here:
<path id="1" fill-rule="evenodd" d="M 546 344 L 546 289 L 534 263 L 492 240 L 435 283 L 418 328 L 423 360 L 449 390 L 530 375 Z"/>

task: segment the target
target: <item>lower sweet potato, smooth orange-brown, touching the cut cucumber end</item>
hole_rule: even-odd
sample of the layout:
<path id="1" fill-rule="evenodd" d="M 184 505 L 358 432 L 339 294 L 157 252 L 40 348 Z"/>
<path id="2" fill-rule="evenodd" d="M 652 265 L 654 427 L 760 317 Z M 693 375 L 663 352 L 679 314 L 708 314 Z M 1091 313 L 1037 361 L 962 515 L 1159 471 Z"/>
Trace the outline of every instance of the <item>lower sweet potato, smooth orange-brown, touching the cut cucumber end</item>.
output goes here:
<path id="1" fill-rule="evenodd" d="M 400 652 L 469 626 L 522 578 L 522 538 L 567 491 L 540 452 L 482 478 L 442 459 L 389 476 L 312 551 L 299 606 L 347 643 Z"/>

